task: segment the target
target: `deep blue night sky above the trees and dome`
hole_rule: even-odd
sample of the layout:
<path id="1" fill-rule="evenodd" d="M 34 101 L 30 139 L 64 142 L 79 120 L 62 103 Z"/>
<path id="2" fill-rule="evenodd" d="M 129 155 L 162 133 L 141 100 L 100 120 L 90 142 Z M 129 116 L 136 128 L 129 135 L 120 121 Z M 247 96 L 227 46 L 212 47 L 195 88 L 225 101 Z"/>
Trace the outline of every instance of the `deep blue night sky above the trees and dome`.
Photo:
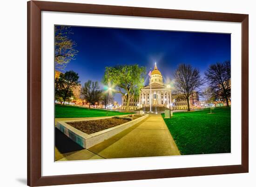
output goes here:
<path id="1" fill-rule="evenodd" d="M 79 51 L 65 71 L 87 80 L 101 82 L 106 66 L 139 64 L 154 67 L 157 63 L 164 80 L 172 78 L 179 63 L 188 63 L 204 71 L 217 61 L 230 60 L 230 34 L 137 30 L 99 27 L 71 27 L 69 38 Z M 62 71 L 63 72 L 63 71 Z M 146 83 L 148 84 L 148 82 Z M 120 94 L 115 100 L 121 104 Z"/>

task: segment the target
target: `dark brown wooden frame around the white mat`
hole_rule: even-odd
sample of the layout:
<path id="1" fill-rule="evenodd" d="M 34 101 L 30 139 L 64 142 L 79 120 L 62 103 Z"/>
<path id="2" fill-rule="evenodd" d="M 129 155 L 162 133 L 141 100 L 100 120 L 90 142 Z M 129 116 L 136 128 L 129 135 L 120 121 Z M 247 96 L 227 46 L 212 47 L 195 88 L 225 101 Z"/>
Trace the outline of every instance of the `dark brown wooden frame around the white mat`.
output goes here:
<path id="1" fill-rule="evenodd" d="M 41 176 L 41 11 L 96 13 L 242 23 L 242 164 L 232 166 L 176 168 L 100 174 Z M 47 1 L 27 2 L 27 185 L 47 186 L 118 180 L 248 173 L 248 61 L 249 15 L 247 14 L 168 10 L 142 7 L 119 7 Z"/>

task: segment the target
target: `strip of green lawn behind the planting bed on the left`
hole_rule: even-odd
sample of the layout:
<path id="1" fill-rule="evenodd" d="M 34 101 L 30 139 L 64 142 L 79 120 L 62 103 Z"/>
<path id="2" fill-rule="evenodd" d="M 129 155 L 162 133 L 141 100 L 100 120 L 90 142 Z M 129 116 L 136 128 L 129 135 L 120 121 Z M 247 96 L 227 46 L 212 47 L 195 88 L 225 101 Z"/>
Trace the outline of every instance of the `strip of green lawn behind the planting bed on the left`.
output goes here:
<path id="1" fill-rule="evenodd" d="M 108 116 L 113 115 L 124 115 L 133 113 L 121 113 L 116 111 L 108 111 Z M 101 117 L 107 116 L 106 110 L 83 108 L 83 107 L 73 107 L 73 106 L 63 106 L 55 105 L 55 118 L 84 118 L 84 117 Z"/>

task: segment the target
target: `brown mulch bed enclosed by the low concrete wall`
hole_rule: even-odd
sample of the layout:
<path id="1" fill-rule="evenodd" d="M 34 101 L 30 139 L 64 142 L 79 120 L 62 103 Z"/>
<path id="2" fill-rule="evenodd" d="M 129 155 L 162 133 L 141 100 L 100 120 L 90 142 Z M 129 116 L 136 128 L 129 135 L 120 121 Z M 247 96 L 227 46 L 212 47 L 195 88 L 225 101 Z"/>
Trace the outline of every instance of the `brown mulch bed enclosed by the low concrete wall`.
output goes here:
<path id="1" fill-rule="evenodd" d="M 141 117 L 141 115 L 135 115 L 132 117 L 132 120 Z M 76 121 L 76 122 L 67 122 L 68 125 L 86 133 L 93 134 L 111 127 L 115 127 L 126 123 L 130 120 L 126 119 L 117 119 L 117 118 L 107 118 L 102 120 L 88 120 L 88 121 Z"/>

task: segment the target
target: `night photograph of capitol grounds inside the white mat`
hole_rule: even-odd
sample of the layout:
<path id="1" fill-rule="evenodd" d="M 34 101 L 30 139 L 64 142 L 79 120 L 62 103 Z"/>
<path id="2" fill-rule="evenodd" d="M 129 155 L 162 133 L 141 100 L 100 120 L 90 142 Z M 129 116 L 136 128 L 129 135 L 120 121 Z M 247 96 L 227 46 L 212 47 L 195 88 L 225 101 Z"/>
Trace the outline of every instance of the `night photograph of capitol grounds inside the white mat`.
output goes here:
<path id="1" fill-rule="evenodd" d="M 231 154 L 231 34 L 54 25 L 54 161 Z"/>

